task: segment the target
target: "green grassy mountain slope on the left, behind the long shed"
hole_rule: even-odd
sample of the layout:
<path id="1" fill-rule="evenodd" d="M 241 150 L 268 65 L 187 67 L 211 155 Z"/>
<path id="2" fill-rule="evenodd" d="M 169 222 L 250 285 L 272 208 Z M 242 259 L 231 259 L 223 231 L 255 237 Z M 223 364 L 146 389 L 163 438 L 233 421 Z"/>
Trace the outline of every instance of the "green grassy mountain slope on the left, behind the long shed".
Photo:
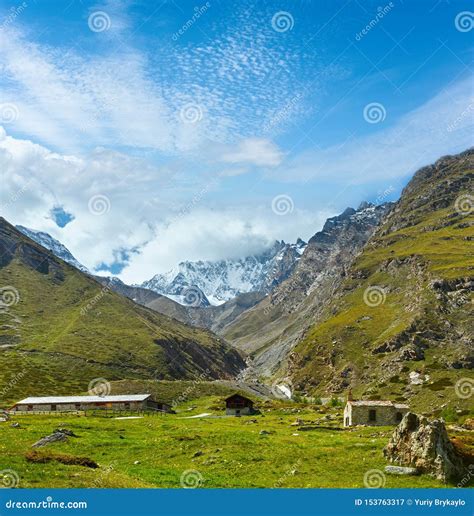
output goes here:
<path id="1" fill-rule="evenodd" d="M 87 390 L 104 377 L 231 377 L 240 355 L 119 296 L 0 218 L 2 400 Z"/>

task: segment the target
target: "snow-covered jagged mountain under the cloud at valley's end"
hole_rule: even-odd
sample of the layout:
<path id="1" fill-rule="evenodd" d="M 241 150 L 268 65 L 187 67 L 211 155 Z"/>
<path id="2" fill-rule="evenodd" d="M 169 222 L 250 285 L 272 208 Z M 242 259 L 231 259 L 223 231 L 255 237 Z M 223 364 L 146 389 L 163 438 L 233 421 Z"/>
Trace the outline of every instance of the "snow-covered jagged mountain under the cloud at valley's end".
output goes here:
<path id="1" fill-rule="evenodd" d="M 181 262 L 164 274 L 157 274 L 140 286 L 181 303 L 190 304 L 189 292 L 201 291 L 212 305 L 219 305 L 246 292 L 270 292 L 293 271 L 306 242 L 276 241 L 255 256 L 234 260 Z"/>

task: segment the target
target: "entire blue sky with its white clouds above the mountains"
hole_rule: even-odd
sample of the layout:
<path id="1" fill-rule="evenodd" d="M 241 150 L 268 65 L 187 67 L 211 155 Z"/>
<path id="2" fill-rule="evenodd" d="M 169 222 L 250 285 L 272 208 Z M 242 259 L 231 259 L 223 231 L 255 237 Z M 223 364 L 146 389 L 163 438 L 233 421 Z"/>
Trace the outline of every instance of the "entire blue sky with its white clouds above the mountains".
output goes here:
<path id="1" fill-rule="evenodd" d="M 472 145 L 467 1 L 0 5 L 2 214 L 129 282 L 307 239 Z"/>

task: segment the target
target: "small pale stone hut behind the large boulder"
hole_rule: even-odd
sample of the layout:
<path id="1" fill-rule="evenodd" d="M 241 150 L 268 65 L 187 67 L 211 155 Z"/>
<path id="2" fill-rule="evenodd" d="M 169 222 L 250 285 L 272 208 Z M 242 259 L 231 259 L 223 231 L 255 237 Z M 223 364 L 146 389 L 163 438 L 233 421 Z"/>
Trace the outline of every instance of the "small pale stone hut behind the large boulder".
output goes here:
<path id="1" fill-rule="evenodd" d="M 344 426 L 398 425 L 409 407 L 384 400 L 348 400 L 344 409 Z"/>

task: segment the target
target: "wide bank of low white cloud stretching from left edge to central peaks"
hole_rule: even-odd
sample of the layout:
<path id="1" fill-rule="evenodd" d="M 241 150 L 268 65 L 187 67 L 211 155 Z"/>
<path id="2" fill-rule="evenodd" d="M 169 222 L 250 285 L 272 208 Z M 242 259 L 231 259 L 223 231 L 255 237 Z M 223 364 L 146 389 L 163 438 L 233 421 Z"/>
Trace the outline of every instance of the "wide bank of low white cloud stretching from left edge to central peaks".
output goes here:
<path id="1" fill-rule="evenodd" d="M 140 283 L 182 260 L 245 256 L 276 239 L 309 238 L 329 215 L 296 208 L 281 217 L 271 198 L 259 207 L 236 202 L 211 209 L 217 179 L 183 185 L 173 164 L 156 167 L 104 148 L 84 157 L 62 155 L 1 127 L 0 170 L 2 216 L 50 233 L 91 270 L 128 251 L 130 263 L 121 274 L 128 282 Z M 90 207 L 98 195 L 106 198 L 102 215 Z M 64 206 L 74 220 L 59 228 L 49 215 L 54 206 Z"/>

